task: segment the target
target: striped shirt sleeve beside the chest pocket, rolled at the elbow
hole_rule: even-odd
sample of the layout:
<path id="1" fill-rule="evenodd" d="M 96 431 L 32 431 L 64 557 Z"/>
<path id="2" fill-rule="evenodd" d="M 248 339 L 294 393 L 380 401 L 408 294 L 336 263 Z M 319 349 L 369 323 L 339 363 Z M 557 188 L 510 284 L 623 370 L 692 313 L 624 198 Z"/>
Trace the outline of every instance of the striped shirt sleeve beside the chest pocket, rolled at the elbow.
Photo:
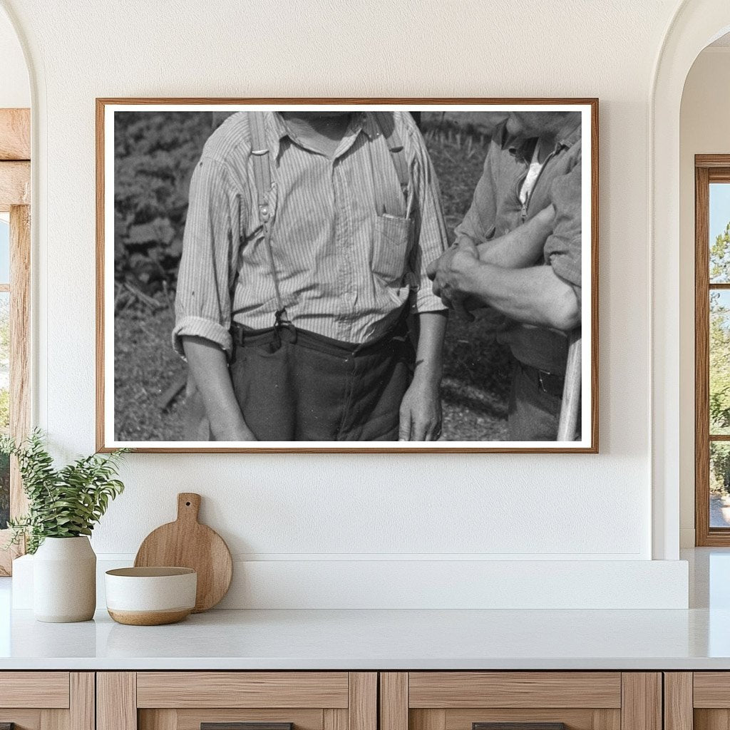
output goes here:
<path id="1" fill-rule="evenodd" d="M 415 203 L 415 242 L 410 255 L 410 270 L 417 280 L 418 291 L 412 300 L 412 311 L 441 312 L 445 306 L 439 297 L 434 296 L 431 281 L 426 274 L 431 261 L 435 261 L 448 248 L 448 236 L 441 205 L 439 181 L 434 165 L 426 150 L 420 132 L 415 125 L 409 128 L 415 148 L 412 161 L 412 180 Z"/>

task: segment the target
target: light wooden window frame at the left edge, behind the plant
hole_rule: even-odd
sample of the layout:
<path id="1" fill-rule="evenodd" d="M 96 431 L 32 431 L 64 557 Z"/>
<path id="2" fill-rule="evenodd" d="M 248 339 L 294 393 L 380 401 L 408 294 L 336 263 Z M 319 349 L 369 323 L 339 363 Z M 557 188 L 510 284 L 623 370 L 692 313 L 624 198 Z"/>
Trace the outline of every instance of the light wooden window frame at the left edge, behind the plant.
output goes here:
<path id="1" fill-rule="evenodd" d="M 31 296 L 31 113 L 0 109 L 0 212 L 10 214 L 10 434 L 23 439 L 30 431 Z M 27 500 L 15 460 L 10 465 L 10 516 L 26 512 Z M 0 530 L 0 575 L 11 575 L 12 561 L 24 546 L 2 550 L 10 539 Z"/>

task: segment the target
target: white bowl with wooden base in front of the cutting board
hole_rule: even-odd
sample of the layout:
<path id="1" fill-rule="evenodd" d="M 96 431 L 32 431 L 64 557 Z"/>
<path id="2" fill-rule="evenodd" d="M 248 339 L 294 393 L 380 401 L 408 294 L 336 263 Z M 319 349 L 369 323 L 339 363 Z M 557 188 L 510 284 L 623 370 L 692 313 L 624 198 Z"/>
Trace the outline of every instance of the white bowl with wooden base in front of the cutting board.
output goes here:
<path id="1" fill-rule="evenodd" d="M 182 621 L 195 608 L 198 575 L 192 568 L 107 570 L 107 611 L 118 623 L 161 626 Z"/>

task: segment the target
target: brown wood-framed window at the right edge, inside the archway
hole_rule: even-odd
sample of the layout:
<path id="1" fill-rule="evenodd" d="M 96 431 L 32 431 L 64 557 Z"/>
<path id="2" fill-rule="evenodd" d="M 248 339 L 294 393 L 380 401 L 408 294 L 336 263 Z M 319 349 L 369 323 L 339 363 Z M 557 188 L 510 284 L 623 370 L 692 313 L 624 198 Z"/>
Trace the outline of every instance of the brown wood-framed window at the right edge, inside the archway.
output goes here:
<path id="1" fill-rule="evenodd" d="M 730 155 L 696 155 L 696 544 L 730 545 Z"/>

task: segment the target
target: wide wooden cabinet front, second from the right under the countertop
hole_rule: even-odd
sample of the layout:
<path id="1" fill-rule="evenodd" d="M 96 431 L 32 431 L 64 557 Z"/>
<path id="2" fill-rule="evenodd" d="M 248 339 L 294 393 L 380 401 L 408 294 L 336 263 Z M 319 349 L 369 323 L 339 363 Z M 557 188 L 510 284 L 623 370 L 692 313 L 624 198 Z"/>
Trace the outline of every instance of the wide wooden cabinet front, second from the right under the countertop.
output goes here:
<path id="1" fill-rule="evenodd" d="M 383 672 L 380 730 L 661 730 L 661 675 Z"/>

